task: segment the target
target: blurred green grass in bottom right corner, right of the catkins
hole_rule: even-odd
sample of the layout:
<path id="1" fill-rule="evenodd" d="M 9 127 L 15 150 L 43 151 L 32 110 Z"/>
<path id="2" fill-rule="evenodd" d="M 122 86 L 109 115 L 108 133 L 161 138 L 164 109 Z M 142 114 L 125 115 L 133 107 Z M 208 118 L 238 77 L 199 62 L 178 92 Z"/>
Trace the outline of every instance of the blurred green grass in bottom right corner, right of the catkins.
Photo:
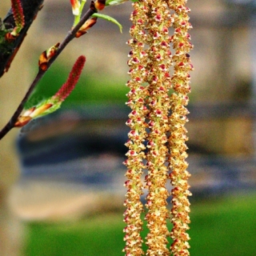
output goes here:
<path id="1" fill-rule="evenodd" d="M 256 255 L 256 195 L 191 207 L 191 255 Z"/>

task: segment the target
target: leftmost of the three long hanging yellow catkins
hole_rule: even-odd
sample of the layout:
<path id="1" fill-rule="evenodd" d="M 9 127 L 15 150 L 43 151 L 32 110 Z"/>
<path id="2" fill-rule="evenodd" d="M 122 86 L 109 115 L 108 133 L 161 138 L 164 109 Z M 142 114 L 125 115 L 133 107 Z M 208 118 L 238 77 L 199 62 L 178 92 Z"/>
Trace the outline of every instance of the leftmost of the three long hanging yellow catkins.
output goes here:
<path id="1" fill-rule="evenodd" d="M 143 142 L 146 139 L 146 114 L 148 113 L 145 102 L 148 92 L 146 86 L 143 86 L 143 82 L 146 80 L 147 57 L 144 51 L 146 42 L 144 24 L 147 10 L 139 2 L 135 2 L 133 6 L 134 11 L 130 15 L 130 20 L 134 25 L 130 28 L 131 39 L 127 42 L 131 47 L 130 60 L 128 61 L 130 80 L 126 84 L 130 88 L 130 92 L 127 94 L 129 99 L 126 104 L 131 108 L 129 119 L 126 122 L 126 125 L 130 126 L 129 140 L 126 142 L 129 150 L 125 162 L 127 166 L 126 178 L 128 180 L 125 182 L 127 192 L 124 204 L 126 206 L 124 222 L 127 226 L 124 229 L 126 246 L 123 251 L 127 256 L 143 254 L 140 235 L 143 206 L 140 196 L 143 188 L 142 170 L 145 168 L 142 161 L 145 158 L 144 150 L 146 147 Z"/>

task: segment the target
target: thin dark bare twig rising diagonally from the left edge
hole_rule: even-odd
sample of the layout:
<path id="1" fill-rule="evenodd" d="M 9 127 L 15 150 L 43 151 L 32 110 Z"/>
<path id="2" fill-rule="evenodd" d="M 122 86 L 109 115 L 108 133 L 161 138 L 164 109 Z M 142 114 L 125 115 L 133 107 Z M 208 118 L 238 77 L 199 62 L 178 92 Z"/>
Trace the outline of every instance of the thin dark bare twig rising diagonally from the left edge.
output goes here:
<path id="1" fill-rule="evenodd" d="M 62 50 L 65 49 L 65 47 L 68 45 L 68 43 L 74 39 L 75 34 L 78 32 L 78 30 L 80 29 L 80 27 L 84 24 L 84 22 L 86 22 L 86 20 L 88 18 L 90 18 L 90 16 L 92 14 L 94 14 L 95 12 L 97 12 L 97 10 L 94 8 L 94 4 L 92 3 L 90 6 L 90 9 L 87 10 L 86 14 L 84 14 L 80 20 L 80 22 L 78 22 L 78 24 L 76 26 L 74 26 L 73 30 L 70 30 L 69 33 L 66 35 L 66 38 L 62 41 L 62 43 L 60 44 L 60 46 L 58 47 L 58 50 L 56 52 L 56 54 L 50 58 L 50 61 L 48 62 L 48 68 L 53 64 L 53 62 L 55 61 L 56 58 L 58 58 L 58 55 L 62 53 Z M 12 129 L 14 128 L 14 124 L 18 119 L 18 116 L 22 113 L 22 110 L 24 108 L 25 103 L 27 102 L 27 100 L 30 97 L 30 94 L 33 92 L 34 87 L 38 84 L 38 82 L 41 80 L 41 78 L 44 76 L 44 74 L 46 74 L 47 70 L 38 70 L 38 74 L 36 75 L 36 77 L 34 78 L 34 81 L 30 84 L 29 90 L 27 90 L 25 97 L 22 99 L 22 102 L 19 104 L 17 110 L 14 112 L 13 116 L 10 118 L 10 121 L 6 124 L 6 126 L 3 127 L 3 129 L 0 131 L 0 140 Z"/>

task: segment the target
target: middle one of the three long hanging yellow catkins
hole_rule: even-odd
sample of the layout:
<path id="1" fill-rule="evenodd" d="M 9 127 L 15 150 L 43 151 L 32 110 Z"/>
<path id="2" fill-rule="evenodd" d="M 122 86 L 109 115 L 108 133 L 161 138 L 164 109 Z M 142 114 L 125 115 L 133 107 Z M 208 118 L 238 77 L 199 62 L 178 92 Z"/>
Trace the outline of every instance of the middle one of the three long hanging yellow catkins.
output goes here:
<path id="1" fill-rule="evenodd" d="M 170 65 L 171 53 L 169 46 L 168 28 L 171 25 L 170 11 L 164 1 L 148 1 L 150 8 L 149 21 L 146 29 L 148 32 L 148 84 L 149 98 L 148 107 L 150 114 L 148 153 L 146 155 L 148 174 L 146 175 L 147 194 L 146 214 L 149 233 L 146 236 L 148 250 L 146 255 L 170 255 L 167 248 L 167 237 L 169 231 L 166 226 L 166 219 L 169 213 L 166 208 L 167 166 L 166 146 L 169 131 L 168 114 L 170 110 Z"/>

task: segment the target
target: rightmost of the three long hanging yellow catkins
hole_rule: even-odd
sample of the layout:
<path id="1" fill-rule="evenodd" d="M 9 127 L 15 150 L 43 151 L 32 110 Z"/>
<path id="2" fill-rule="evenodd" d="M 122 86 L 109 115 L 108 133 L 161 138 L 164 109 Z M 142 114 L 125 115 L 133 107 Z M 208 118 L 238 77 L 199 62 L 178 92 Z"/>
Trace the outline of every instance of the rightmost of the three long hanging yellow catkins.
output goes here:
<path id="1" fill-rule="evenodd" d="M 185 124 L 188 122 L 186 114 L 186 105 L 189 98 L 187 94 L 190 93 L 190 70 L 193 66 L 190 62 L 190 55 L 188 54 L 192 48 L 190 43 L 190 30 L 191 25 L 189 22 L 188 13 L 190 9 L 186 7 L 186 1 L 168 1 L 171 10 L 174 10 L 172 15 L 174 23 L 174 34 L 171 37 L 171 42 L 174 48 L 174 74 L 171 78 L 174 93 L 171 94 L 171 111 L 170 122 L 170 138 L 168 139 L 170 145 L 170 179 L 174 187 L 171 190 L 172 194 L 172 218 L 173 229 L 170 236 L 174 240 L 170 246 L 170 250 L 174 256 L 190 255 L 190 245 L 188 240 L 189 234 L 186 230 L 189 229 L 190 223 L 190 196 L 187 179 L 190 177 L 189 172 L 186 170 L 188 164 L 186 162 L 186 128 Z"/>

